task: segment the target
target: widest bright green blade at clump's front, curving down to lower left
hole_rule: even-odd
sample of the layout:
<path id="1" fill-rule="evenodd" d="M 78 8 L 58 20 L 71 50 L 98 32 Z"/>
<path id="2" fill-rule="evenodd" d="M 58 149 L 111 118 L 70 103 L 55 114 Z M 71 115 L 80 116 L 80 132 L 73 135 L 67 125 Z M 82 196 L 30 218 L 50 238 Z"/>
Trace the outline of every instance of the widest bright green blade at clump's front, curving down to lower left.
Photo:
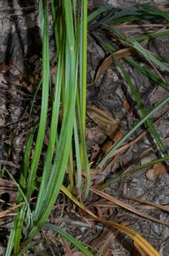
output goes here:
<path id="1" fill-rule="evenodd" d="M 53 167 L 50 171 L 50 177 L 48 179 L 48 185 L 44 191 L 43 208 L 40 210 L 40 216 L 34 217 L 33 227 L 28 230 L 28 237 L 24 242 L 27 245 L 31 239 L 38 233 L 40 227 L 45 223 L 53 209 L 58 193 L 60 192 L 60 186 L 62 185 L 63 178 L 65 176 L 68 157 L 70 154 L 70 146 L 72 143 L 72 131 L 75 117 L 75 102 L 77 94 L 77 70 L 78 70 L 78 55 L 79 48 L 76 46 L 75 30 L 72 14 L 72 4 L 68 0 L 62 2 L 63 11 L 62 14 L 65 17 L 65 23 L 67 30 L 65 33 L 65 68 L 62 70 L 62 82 L 63 82 L 63 116 L 62 125 L 60 128 L 60 134 L 58 137 L 57 152 L 53 161 Z M 60 14 L 60 16 L 62 16 Z M 77 38 L 77 40 L 79 40 Z"/>

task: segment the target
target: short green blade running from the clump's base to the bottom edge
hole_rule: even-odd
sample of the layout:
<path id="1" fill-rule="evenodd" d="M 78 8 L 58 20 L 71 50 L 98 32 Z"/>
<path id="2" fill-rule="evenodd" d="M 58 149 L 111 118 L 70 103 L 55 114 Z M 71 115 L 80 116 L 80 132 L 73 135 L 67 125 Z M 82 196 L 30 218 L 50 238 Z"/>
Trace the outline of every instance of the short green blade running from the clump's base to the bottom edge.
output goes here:
<path id="1" fill-rule="evenodd" d="M 58 228 L 55 225 L 50 223 L 45 223 L 44 226 L 45 228 L 50 228 L 51 230 L 57 232 L 62 238 L 65 238 L 65 240 L 69 241 L 70 243 L 72 243 L 72 245 L 77 247 L 77 249 L 80 250 L 80 252 L 82 252 L 84 255 L 93 256 L 92 252 L 89 252 L 89 250 L 87 250 L 86 247 L 84 247 L 84 245 L 82 245 L 81 242 L 73 238 L 72 235 L 65 233 L 63 230 L 61 230 L 61 228 Z"/>

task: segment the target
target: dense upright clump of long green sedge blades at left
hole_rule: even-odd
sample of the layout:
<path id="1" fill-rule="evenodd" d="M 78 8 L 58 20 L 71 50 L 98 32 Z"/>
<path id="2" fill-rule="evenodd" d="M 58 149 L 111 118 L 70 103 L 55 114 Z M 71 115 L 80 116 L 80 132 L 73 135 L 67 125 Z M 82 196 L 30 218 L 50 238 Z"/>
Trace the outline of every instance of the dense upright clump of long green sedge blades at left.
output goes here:
<path id="1" fill-rule="evenodd" d="M 17 202 L 26 204 L 13 218 L 11 234 L 6 255 L 18 255 L 21 247 L 28 247 L 31 240 L 48 220 L 51 210 L 60 192 L 66 171 L 70 176 L 71 186 L 77 186 L 89 193 L 90 175 L 85 146 L 86 114 L 86 75 L 87 75 L 87 1 L 39 1 L 40 22 L 43 28 L 43 68 L 41 82 L 41 111 L 38 131 L 33 131 L 28 139 L 25 152 L 24 170 L 19 185 L 24 193 L 18 192 Z M 50 49 L 48 12 L 51 9 L 53 31 L 56 46 L 57 72 L 50 90 Z M 43 150 L 48 108 L 51 100 L 50 134 L 48 148 L 37 188 L 38 166 Z M 61 114 L 62 113 L 62 114 Z M 30 158 L 33 139 L 36 144 Z M 72 155 L 75 146 L 76 156 Z M 77 180 L 74 179 L 77 161 Z M 87 181 L 82 183 L 82 171 L 87 171 Z M 30 213 L 31 196 L 38 190 L 36 207 Z M 23 225 L 26 235 L 21 244 Z M 89 254 L 88 254 L 89 255 Z M 91 254 L 90 254 L 91 255 Z"/>

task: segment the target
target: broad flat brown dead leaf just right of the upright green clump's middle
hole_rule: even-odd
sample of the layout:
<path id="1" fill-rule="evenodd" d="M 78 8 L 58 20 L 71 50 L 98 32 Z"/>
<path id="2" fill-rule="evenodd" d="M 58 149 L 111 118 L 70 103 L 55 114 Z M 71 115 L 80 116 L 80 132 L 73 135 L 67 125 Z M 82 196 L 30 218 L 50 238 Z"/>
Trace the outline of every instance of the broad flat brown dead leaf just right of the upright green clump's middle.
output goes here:
<path id="1" fill-rule="evenodd" d="M 120 124 L 112 117 L 110 112 L 88 105 L 87 114 L 102 129 L 104 134 L 114 140 L 120 129 Z"/>

